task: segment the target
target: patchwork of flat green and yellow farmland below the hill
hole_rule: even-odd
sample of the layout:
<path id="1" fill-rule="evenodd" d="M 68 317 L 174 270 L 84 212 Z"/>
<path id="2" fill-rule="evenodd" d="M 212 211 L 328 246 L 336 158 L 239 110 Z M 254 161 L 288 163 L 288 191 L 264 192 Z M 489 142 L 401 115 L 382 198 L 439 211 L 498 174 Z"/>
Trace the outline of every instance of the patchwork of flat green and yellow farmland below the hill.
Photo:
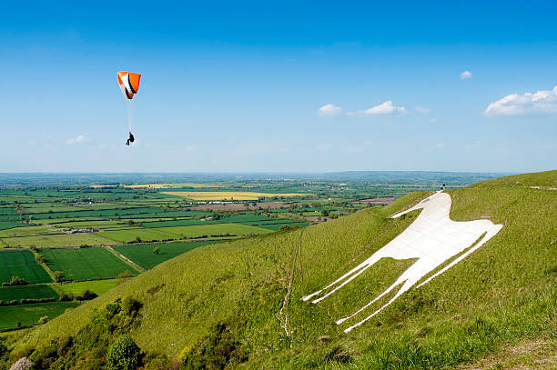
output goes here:
<path id="1" fill-rule="evenodd" d="M 424 185 L 0 184 L 0 330 L 37 325 L 203 245 L 349 215 Z"/>

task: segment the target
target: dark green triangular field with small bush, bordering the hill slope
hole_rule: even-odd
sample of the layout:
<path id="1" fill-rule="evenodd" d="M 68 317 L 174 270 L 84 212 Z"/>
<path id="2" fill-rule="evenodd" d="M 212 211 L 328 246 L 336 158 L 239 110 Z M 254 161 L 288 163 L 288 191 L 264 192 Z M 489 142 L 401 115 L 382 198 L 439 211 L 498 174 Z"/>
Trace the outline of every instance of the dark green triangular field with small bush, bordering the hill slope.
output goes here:
<path id="1" fill-rule="evenodd" d="M 161 243 L 156 245 L 116 245 L 114 249 L 126 255 L 127 258 L 134 261 L 137 265 L 149 269 L 161 264 L 177 255 L 182 255 L 201 245 L 213 244 L 211 241 L 200 242 L 177 242 L 177 243 Z M 159 247 L 158 255 L 153 254 L 153 249 Z"/>

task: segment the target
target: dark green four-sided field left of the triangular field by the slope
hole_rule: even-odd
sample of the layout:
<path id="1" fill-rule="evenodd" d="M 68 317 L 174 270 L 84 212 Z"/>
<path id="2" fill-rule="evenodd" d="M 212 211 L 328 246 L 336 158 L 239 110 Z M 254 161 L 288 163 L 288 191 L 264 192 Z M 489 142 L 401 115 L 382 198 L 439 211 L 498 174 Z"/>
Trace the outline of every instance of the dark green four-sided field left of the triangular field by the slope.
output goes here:
<path id="1" fill-rule="evenodd" d="M 66 280 L 106 279 L 126 271 L 137 274 L 135 267 L 104 247 L 43 249 L 39 253 L 50 269 L 62 271 Z"/>

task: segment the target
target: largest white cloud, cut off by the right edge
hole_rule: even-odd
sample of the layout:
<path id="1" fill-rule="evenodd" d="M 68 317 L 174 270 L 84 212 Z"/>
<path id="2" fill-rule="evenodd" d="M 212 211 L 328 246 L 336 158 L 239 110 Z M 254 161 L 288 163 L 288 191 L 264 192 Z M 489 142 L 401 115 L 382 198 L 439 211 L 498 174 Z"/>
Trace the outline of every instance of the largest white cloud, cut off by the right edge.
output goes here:
<path id="1" fill-rule="evenodd" d="M 484 115 L 551 115 L 557 113 L 557 86 L 524 95 L 507 95 L 491 103 Z"/>

